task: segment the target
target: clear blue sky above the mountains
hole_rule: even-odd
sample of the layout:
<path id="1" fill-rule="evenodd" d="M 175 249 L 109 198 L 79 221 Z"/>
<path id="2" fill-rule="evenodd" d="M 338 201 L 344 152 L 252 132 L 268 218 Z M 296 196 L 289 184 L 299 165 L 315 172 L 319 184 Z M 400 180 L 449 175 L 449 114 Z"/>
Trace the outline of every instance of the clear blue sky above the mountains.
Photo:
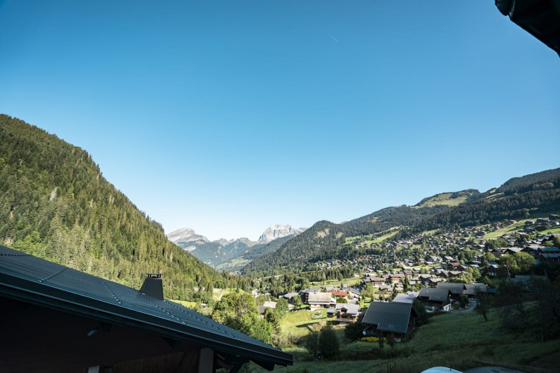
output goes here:
<path id="1" fill-rule="evenodd" d="M 493 1 L 0 1 L 0 113 L 166 232 L 257 239 L 560 166 L 560 58 Z"/>

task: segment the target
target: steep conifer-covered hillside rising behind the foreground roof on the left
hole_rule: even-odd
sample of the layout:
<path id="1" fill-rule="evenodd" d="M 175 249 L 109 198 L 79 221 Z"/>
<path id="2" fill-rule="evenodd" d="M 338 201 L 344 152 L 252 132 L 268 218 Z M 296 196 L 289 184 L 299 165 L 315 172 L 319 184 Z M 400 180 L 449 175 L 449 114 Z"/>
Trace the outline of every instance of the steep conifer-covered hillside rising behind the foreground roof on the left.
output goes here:
<path id="1" fill-rule="evenodd" d="M 163 272 L 167 297 L 231 281 L 167 240 L 85 150 L 0 115 L 0 243 L 139 288 Z"/>

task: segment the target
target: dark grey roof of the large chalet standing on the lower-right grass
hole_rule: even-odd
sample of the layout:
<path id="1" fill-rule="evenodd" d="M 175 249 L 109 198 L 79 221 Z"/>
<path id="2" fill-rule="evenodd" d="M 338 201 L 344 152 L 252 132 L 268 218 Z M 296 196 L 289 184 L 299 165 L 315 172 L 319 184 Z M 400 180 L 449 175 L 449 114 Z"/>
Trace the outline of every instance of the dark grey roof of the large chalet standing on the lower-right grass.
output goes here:
<path id="1" fill-rule="evenodd" d="M 393 302 L 371 302 L 362 323 L 377 325 L 381 332 L 397 332 L 405 334 L 412 312 L 412 304 Z"/>

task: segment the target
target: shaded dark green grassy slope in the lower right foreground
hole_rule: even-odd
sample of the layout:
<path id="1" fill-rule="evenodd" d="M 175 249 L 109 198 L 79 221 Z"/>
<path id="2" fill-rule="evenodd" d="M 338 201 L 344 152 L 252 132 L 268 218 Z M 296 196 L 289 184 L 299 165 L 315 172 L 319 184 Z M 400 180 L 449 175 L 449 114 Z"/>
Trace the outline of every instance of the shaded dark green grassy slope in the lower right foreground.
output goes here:
<path id="1" fill-rule="evenodd" d="M 310 321 L 300 322 L 300 325 L 305 325 Z M 298 329 L 307 332 L 305 326 Z M 339 330 L 339 337 L 342 338 L 342 330 Z M 498 316 L 495 313 L 490 314 L 489 321 L 485 323 L 482 316 L 475 312 L 435 316 L 430 324 L 417 328 L 414 337 L 408 342 L 397 344 L 395 351 L 385 346 L 386 353 L 400 353 L 396 358 L 360 360 L 360 356 L 375 353 L 378 349 L 379 346 L 374 343 L 342 342 L 341 356 L 352 354 L 349 360 L 313 360 L 300 343 L 300 346 L 286 349 L 294 355 L 293 367 L 279 367 L 275 371 L 412 373 L 434 366 L 467 370 L 471 367 L 500 365 L 523 372 L 544 373 L 554 372 L 554 356 L 560 355 L 558 340 L 539 343 L 530 336 L 504 332 L 498 329 Z M 248 371 L 263 372 L 255 365 L 249 365 Z"/>

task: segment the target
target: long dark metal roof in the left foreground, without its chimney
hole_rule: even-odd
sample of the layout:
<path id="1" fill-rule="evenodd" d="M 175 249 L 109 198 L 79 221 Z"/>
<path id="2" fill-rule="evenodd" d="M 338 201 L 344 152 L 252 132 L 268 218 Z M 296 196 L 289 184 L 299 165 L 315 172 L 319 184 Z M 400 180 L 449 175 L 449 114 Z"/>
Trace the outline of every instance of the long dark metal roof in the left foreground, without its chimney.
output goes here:
<path id="1" fill-rule="evenodd" d="M 0 295 L 241 356 L 291 365 L 293 357 L 169 300 L 0 246 Z"/>

